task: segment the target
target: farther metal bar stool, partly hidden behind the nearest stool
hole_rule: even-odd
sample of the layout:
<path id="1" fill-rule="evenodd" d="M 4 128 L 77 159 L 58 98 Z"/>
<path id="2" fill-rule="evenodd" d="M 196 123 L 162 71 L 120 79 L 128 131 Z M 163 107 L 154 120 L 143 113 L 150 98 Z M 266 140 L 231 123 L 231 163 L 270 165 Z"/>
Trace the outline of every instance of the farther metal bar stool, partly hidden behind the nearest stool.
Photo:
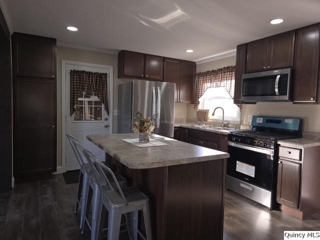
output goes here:
<path id="1" fill-rule="evenodd" d="M 83 228 L 84 228 L 84 223 L 86 221 L 85 219 L 85 213 L 87 211 L 88 206 L 88 201 L 91 201 L 90 196 L 89 196 L 89 188 L 92 188 L 93 193 L 93 202 L 92 205 L 95 205 L 94 202 L 97 200 L 97 193 L 96 191 L 98 190 L 98 186 L 97 183 L 95 181 L 95 178 L 93 176 L 93 173 L 91 171 L 91 167 L 89 165 L 89 163 L 86 162 L 86 158 L 83 157 L 83 154 L 80 154 L 78 148 L 83 148 L 83 146 L 78 143 L 78 141 L 71 136 L 70 134 L 66 134 L 70 145 L 72 147 L 72 150 L 76 156 L 76 159 L 80 165 L 80 174 L 79 174 L 79 182 L 78 182 L 78 191 L 77 191 L 77 199 L 76 199 L 76 204 L 75 204 L 75 209 L 74 209 L 74 213 L 76 214 L 77 209 L 79 207 L 79 205 L 81 206 L 81 214 L 80 214 L 80 229 L 81 232 L 83 233 Z M 108 178 L 112 178 L 112 176 L 110 176 L 110 174 L 107 174 Z M 119 181 L 119 184 L 123 187 L 126 186 L 126 180 L 125 178 L 123 178 L 121 175 L 117 174 L 116 178 Z M 107 184 L 104 184 L 103 186 L 104 188 L 108 188 Z M 82 199 L 81 199 L 82 198 Z M 92 209 L 92 215 L 94 212 L 94 208 Z M 94 226 L 93 226 L 94 227 Z M 91 226 L 90 226 L 91 229 Z M 97 235 L 95 235 L 97 233 L 97 231 L 92 231 L 91 235 L 92 235 L 92 239 L 97 239 Z"/>

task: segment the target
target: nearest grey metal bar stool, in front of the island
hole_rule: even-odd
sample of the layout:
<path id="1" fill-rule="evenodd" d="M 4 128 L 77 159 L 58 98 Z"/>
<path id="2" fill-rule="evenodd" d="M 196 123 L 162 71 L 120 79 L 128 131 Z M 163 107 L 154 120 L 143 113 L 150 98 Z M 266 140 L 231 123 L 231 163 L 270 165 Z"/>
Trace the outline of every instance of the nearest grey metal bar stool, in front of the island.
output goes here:
<path id="1" fill-rule="evenodd" d="M 145 239 L 138 231 L 137 227 L 138 210 L 142 210 L 146 239 L 152 240 L 148 197 L 135 187 L 125 187 L 121 189 L 114 173 L 109 167 L 98 161 L 98 159 L 88 150 L 84 149 L 84 153 L 90 164 L 93 175 L 96 178 L 98 187 L 101 192 L 103 192 L 103 197 L 101 199 L 102 204 L 108 211 L 107 239 L 118 239 L 122 214 L 125 215 L 126 219 L 130 218 L 129 223 L 127 223 L 129 237 L 133 237 L 134 240 L 137 240 L 137 236 L 140 234 Z M 116 187 L 114 187 L 113 184 L 110 184 L 105 175 L 105 171 L 112 176 L 112 180 Z M 103 178 L 101 178 L 100 175 L 102 175 Z M 109 185 L 110 190 L 105 191 L 103 189 L 105 183 Z M 100 209 L 102 209 L 102 204 Z M 99 214 L 101 214 L 101 211 L 99 211 Z"/>

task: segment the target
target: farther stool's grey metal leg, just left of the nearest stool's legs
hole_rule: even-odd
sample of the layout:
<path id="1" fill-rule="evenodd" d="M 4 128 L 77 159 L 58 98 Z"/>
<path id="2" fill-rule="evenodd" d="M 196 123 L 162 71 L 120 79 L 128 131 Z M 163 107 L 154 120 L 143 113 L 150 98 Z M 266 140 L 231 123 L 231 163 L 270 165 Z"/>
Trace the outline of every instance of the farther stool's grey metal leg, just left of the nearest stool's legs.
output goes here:
<path id="1" fill-rule="evenodd" d="M 92 196 L 92 221 L 91 221 L 91 240 L 98 239 L 98 231 L 102 211 L 102 194 L 98 185 L 94 186 Z"/>

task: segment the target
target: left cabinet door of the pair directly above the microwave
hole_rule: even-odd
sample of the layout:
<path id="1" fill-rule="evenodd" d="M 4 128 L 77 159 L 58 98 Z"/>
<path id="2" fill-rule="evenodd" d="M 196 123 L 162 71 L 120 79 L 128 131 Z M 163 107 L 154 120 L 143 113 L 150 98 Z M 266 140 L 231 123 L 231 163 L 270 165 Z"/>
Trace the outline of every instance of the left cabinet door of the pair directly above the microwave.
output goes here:
<path id="1" fill-rule="evenodd" d="M 255 72 L 267 69 L 269 38 L 252 41 L 247 44 L 246 71 Z"/>

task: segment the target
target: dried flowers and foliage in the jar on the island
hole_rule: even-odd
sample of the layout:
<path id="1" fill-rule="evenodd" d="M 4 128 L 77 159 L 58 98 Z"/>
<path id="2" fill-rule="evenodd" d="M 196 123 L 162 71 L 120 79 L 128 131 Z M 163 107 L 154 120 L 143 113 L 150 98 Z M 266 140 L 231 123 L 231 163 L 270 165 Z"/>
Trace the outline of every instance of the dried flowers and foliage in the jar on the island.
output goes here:
<path id="1" fill-rule="evenodd" d="M 153 116 L 143 117 L 142 113 L 137 111 L 134 116 L 132 131 L 133 132 L 152 132 L 155 127 L 156 119 L 158 118 L 158 114 L 154 114 Z"/>

